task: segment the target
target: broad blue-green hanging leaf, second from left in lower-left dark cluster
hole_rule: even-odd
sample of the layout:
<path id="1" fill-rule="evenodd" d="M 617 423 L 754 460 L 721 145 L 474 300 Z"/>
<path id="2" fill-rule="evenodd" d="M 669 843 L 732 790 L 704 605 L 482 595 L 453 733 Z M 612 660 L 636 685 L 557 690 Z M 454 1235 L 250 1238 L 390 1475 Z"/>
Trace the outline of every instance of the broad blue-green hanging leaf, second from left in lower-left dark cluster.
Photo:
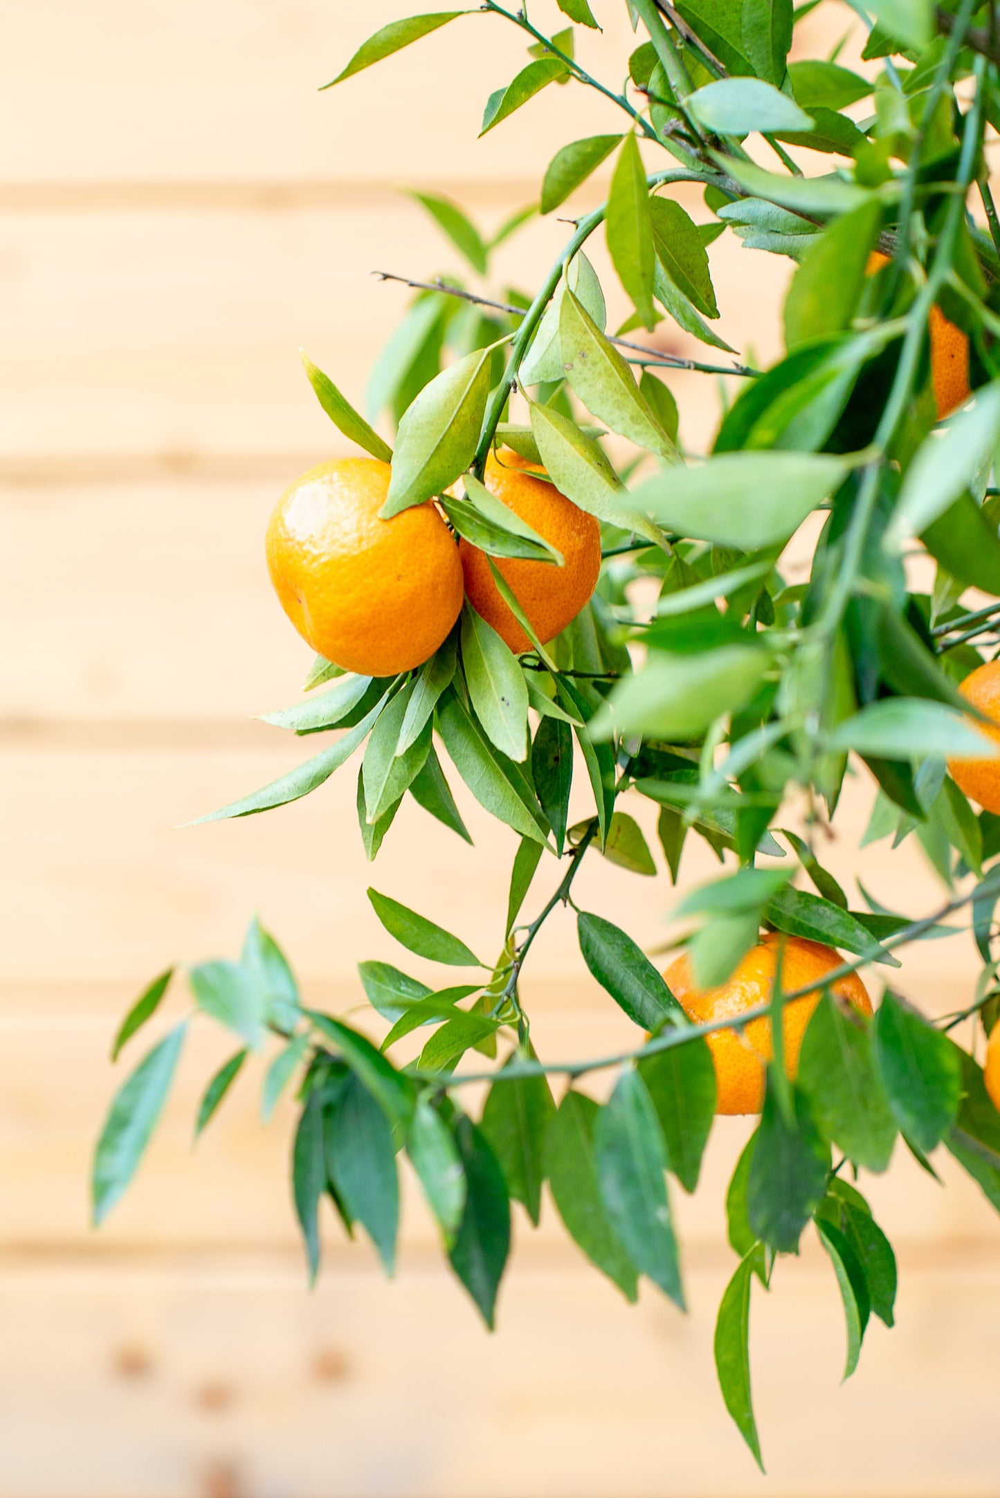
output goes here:
<path id="1" fill-rule="evenodd" d="M 400 1182 L 392 1129 L 382 1106 L 352 1073 L 323 1122 L 326 1173 L 347 1215 L 367 1230 L 385 1272 L 395 1272 Z"/>

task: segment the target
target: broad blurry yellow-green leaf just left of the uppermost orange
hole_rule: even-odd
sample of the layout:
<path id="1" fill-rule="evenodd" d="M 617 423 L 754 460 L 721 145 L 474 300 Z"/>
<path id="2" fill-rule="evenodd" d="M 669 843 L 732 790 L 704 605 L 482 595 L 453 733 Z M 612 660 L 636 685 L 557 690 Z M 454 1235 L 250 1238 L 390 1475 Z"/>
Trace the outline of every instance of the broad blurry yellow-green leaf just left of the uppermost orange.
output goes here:
<path id="1" fill-rule="evenodd" d="M 880 204 L 871 199 L 816 237 L 784 301 L 789 351 L 850 327 L 880 220 Z"/>

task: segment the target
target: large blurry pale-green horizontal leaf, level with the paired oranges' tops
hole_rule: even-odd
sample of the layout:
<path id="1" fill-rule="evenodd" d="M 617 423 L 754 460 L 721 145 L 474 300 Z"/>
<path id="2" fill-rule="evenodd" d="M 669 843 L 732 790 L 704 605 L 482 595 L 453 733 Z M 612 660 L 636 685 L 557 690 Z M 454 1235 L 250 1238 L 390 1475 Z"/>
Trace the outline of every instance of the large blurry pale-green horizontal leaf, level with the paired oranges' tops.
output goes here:
<path id="1" fill-rule="evenodd" d="M 787 541 L 843 484 L 850 461 L 813 452 L 722 452 L 647 479 L 633 502 L 668 530 L 756 551 Z"/>

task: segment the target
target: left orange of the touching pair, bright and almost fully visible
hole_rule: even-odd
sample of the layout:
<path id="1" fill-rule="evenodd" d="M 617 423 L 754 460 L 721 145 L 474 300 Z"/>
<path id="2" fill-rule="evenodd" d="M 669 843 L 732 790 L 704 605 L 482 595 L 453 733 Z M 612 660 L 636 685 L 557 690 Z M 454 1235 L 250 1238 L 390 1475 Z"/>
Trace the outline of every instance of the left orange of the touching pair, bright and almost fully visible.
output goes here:
<path id="1" fill-rule="evenodd" d="M 428 500 L 382 520 L 391 469 L 335 458 L 281 494 L 268 571 L 302 640 L 344 671 L 395 676 L 422 665 L 463 604 L 458 547 Z"/>

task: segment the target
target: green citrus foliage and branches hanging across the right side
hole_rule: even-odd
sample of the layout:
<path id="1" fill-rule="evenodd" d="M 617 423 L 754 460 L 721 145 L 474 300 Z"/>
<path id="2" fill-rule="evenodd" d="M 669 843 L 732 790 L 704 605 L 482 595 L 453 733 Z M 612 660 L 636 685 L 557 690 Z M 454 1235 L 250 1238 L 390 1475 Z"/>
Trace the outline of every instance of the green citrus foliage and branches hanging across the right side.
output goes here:
<path id="1" fill-rule="evenodd" d="M 380 1044 L 364 1022 L 305 1008 L 256 921 L 238 962 L 187 974 L 195 1013 L 238 1044 L 205 1091 L 198 1129 L 251 1053 L 268 1056 L 265 1119 L 293 1092 L 293 1197 L 310 1273 L 320 1258 L 319 1215 L 331 1207 L 349 1234 L 365 1230 L 392 1272 L 404 1152 L 458 1279 L 493 1326 L 510 1201 L 537 1222 L 545 1183 L 597 1272 L 629 1300 L 647 1276 L 683 1309 L 671 1197 L 696 1188 L 713 1125 L 705 1035 L 760 1016 L 780 1032 L 781 1007 L 795 998 L 781 992 L 778 968 L 760 1007 L 690 1023 L 632 936 L 576 909 L 584 857 L 603 855 L 636 876 L 656 872 L 626 810 L 636 797 L 657 807 L 672 879 L 692 837 L 723 864 L 680 912 L 695 921 L 705 984 L 725 981 L 762 929 L 837 947 L 846 956 L 834 977 L 876 962 L 891 978 L 903 944 L 972 926 L 984 968 L 961 1013 L 930 1020 L 889 987 L 867 1020 L 828 987 L 796 1080 L 768 1068 L 760 1122 L 728 1194 L 738 1264 L 716 1332 L 723 1398 L 757 1461 L 750 1303 L 805 1230 L 829 1257 L 831 1293 L 843 1299 L 847 1374 L 870 1318 L 892 1324 L 895 1260 L 858 1171 L 886 1170 L 894 1149 L 927 1162 L 945 1147 L 1000 1209 L 1000 1115 L 975 1055 L 951 1035 L 972 1019 L 958 1034 L 973 1037 L 975 1052 L 976 1016 L 984 1029 L 996 1017 L 1000 816 L 976 812 L 948 771 L 955 756 L 991 752 L 957 688 L 994 653 L 1000 617 L 1000 602 L 982 602 L 984 593 L 1000 596 L 1000 494 L 990 487 L 1000 437 L 1000 258 L 970 211 L 979 199 L 1000 235 L 984 163 L 987 123 L 1000 121 L 999 33 L 972 0 L 883 0 L 870 6 L 874 24 L 858 7 L 856 25 L 870 28 L 864 76 L 835 60 L 789 63 L 793 28 L 817 3 L 793 13 L 790 0 L 627 0 L 636 42 L 623 91 L 575 61 L 573 25 L 597 25 L 587 0 L 560 0 L 567 24 L 554 36 L 493 0 L 395 21 L 334 79 L 446 24 L 467 28 L 469 58 L 485 72 L 484 33 L 515 25 L 528 55 L 485 100 L 484 133 L 533 108 L 543 90 L 557 111 L 552 85 L 594 88 L 620 106 L 620 130 L 567 142 L 540 177 L 537 210 L 493 240 L 455 204 L 418 195 L 484 276 L 519 222 L 554 213 L 611 165 L 608 201 L 575 220 L 533 292 L 487 298 L 455 277 L 416 283 L 368 386 L 370 419 L 388 412 L 398 427 L 394 451 L 305 361 L 335 425 L 391 458 L 385 514 L 436 497 L 454 532 L 488 556 L 557 568 L 554 548 L 481 482 L 491 448 L 507 446 L 600 520 L 602 578 L 546 647 L 497 572 L 533 644 L 519 658 L 467 605 L 442 649 L 395 679 L 346 676 L 317 661 L 310 695 L 269 719 L 322 736 L 317 752 L 211 813 L 281 806 L 359 756 L 358 819 L 374 858 L 406 795 L 472 840 L 452 797 L 457 776 L 518 834 L 507 908 L 496 920 L 499 959 L 442 929 L 419 896 L 410 909 L 371 888 L 386 930 L 440 974 L 431 989 L 404 968 L 359 965 L 361 989 L 385 1022 L 374 1034 L 388 1026 Z M 808 175 L 789 147 L 811 150 Z M 677 201 L 681 183 L 701 186 L 701 222 Z M 740 364 L 723 336 L 708 256 L 723 234 L 795 262 L 786 354 L 762 372 Z M 635 309 L 614 336 L 587 259 L 596 235 Z M 642 330 L 663 321 L 707 346 L 704 363 L 642 342 Z M 942 328 L 966 351 L 951 395 L 931 360 Z M 708 455 L 686 449 L 669 388 L 677 366 L 722 372 L 740 386 Z M 602 445 L 609 433 L 615 463 Z M 808 581 L 790 586 L 781 554 L 814 512 L 822 527 Z M 907 580 L 913 551 L 934 562 L 930 593 Z M 630 604 L 636 580 L 654 584 L 651 608 Z M 964 598 L 969 589 L 979 593 Z M 823 869 L 813 833 L 835 815 L 849 765 L 876 792 L 864 840 L 919 843 L 945 887 L 940 909 L 889 911 L 861 884 L 849 897 Z M 585 777 L 593 804 L 569 825 L 573 776 Z M 805 836 L 783 830 L 790 800 L 810 809 Z M 542 923 L 566 906 L 587 968 L 636 1026 L 621 1055 L 554 1061 L 533 1049 L 519 978 Z M 169 981 L 163 974 L 142 995 L 115 1053 Z M 97 1219 L 136 1168 L 187 1023 L 166 1034 L 112 1104 L 94 1167 Z M 403 1064 L 398 1043 L 415 1031 L 422 1049 Z M 591 1074 L 605 1101 L 591 1097 Z M 472 1082 L 488 1083 L 479 1118 L 464 1104 Z"/>

